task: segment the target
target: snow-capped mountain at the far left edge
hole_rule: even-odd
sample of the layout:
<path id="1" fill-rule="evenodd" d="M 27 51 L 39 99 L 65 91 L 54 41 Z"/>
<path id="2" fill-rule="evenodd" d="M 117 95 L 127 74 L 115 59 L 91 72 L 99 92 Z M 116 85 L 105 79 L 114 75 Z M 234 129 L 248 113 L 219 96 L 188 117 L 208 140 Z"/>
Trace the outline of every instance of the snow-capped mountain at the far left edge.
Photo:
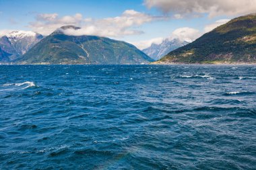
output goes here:
<path id="1" fill-rule="evenodd" d="M 15 60 L 42 38 L 41 34 L 35 32 L 13 31 L 0 38 L 0 47 L 9 53 L 9 60 Z"/>

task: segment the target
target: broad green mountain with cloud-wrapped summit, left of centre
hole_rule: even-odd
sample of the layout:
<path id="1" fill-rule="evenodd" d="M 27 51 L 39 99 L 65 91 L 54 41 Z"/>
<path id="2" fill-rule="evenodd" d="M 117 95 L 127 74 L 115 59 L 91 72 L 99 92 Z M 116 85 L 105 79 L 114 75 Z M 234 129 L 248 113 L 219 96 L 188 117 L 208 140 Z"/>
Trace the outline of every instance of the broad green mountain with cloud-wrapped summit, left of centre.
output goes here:
<path id="1" fill-rule="evenodd" d="M 65 30 L 79 30 L 64 26 L 46 36 L 22 58 L 23 64 L 140 64 L 153 59 L 127 42 L 99 36 L 69 36 Z"/>

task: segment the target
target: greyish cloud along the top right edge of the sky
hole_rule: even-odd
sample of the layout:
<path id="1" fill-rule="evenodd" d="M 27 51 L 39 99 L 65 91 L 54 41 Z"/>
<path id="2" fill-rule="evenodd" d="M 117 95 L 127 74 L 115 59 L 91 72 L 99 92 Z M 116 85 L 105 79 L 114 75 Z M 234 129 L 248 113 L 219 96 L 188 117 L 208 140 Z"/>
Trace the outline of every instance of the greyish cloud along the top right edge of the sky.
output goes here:
<path id="1" fill-rule="evenodd" d="M 178 18 L 202 13 L 208 13 L 209 17 L 245 15 L 256 11 L 256 0 L 144 0 L 144 4 L 174 13 Z"/>

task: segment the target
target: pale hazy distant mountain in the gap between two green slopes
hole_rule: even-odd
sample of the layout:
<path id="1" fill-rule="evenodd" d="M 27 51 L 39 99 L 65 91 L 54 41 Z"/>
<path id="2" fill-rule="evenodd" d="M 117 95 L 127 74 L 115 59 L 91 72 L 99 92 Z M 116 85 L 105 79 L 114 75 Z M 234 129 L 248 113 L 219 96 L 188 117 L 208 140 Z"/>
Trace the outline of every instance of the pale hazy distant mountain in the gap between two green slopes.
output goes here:
<path id="1" fill-rule="evenodd" d="M 154 60 L 159 60 L 168 52 L 171 52 L 172 50 L 176 50 L 177 48 L 180 48 L 181 46 L 185 46 L 189 44 L 189 42 L 181 41 L 178 38 L 174 38 L 172 40 L 166 38 L 161 44 L 152 44 L 149 48 L 146 48 L 142 50 L 148 56 L 153 58 Z"/>

